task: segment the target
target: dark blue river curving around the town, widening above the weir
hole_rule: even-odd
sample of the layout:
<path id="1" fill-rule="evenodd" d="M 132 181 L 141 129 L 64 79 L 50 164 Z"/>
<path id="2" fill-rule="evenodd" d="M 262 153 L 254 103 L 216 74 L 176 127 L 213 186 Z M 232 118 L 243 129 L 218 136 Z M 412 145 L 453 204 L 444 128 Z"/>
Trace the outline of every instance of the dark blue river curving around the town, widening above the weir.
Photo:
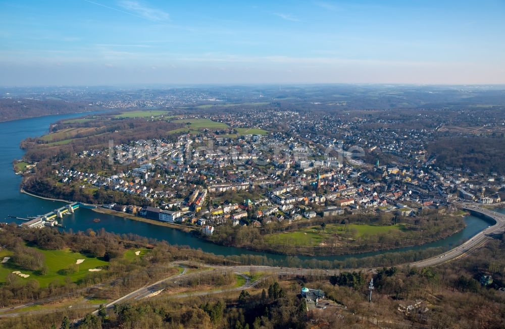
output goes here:
<path id="1" fill-rule="evenodd" d="M 19 192 L 21 177 L 15 175 L 12 169 L 13 159 L 21 158 L 23 150 L 19 148 L 19 143 L 27 138 L 46 134 L 49 129 L 49 124 L 65 118 L 80 117 L 83 114 L 57 115 L 40 118 L 22 119 L 10 122 L 0 123 L 0 222 L 13 222 L 18 224 L 23 223 L 21 220 L 14 220 L 8 215 L 19 217 L 28 217 L 38 214 L 43 214 L 54 210 L 64 203 L 57 201 L 48 201 Z M 504 213 L 503 209 L 499 210 Z M 100 218 L 99 223 L 94 223 L 94 218 Z M 200 240 L 188 233 L 181 232 L 176 229 L 151 225 L 143 222 L 137 222 L 114 216 L 109 214 L 97 213 L 95 211 L 80 208 L 74 214 L 63 218 L 66 230 L 72 229 L 74 232 L 93 229 L 95 231 L 104 228 L 108 232 L 118 234 L 133 233 L 147 238 L 165 240 L 173 245 L 187 245 L 191 248 L 200 248 L 207 252 L 212 252 L 216 255 L 264 255 L 278 261 L 286 259 L 285 255 L 270 254 L 249 251 L 242 248 L 225 247 L 215 245 L 210 242 Z M 447 237 L 443 240 L 427 243 L 421 246 L 405 247 L 395 249 L 394 251 L 419 250 L 430 247 L 451 247 L 470 239 L 484 228 L 489 226 L 481 218 L 474 216 L 465 217 L 466 227 L 463 231 Z M 376 251 L 362 254 L 338 255 L 338 256 L 298 256 L 300 259 L 319 259 L 319 260 L 344 260 L 349 257 L 366 257 L 381 254 L 390 251 Z"/>

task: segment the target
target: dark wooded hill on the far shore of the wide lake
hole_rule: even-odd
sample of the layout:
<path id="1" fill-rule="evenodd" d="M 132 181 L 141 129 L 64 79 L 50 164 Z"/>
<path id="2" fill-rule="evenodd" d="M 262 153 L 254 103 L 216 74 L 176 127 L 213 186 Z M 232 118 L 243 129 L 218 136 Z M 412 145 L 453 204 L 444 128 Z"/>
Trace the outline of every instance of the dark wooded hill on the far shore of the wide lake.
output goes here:
<path id="1" fill-rule="evenodd" d="M 26 98 L 0 99 L 0 122 L 86 111 L 91 111 L 91 109 L 87 104 L 81 102 Z"/>

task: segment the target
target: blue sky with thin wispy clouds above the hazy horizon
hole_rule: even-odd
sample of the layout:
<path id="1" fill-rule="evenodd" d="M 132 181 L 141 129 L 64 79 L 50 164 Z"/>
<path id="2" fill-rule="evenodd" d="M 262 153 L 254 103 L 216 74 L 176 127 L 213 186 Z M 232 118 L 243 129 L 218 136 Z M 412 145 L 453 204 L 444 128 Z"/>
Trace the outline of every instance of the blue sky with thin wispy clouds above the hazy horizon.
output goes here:
<path id="1" fill-rule="evenodd" d="M 505 83 L 505 1 L 0 0 L 0 85 Z"/>

